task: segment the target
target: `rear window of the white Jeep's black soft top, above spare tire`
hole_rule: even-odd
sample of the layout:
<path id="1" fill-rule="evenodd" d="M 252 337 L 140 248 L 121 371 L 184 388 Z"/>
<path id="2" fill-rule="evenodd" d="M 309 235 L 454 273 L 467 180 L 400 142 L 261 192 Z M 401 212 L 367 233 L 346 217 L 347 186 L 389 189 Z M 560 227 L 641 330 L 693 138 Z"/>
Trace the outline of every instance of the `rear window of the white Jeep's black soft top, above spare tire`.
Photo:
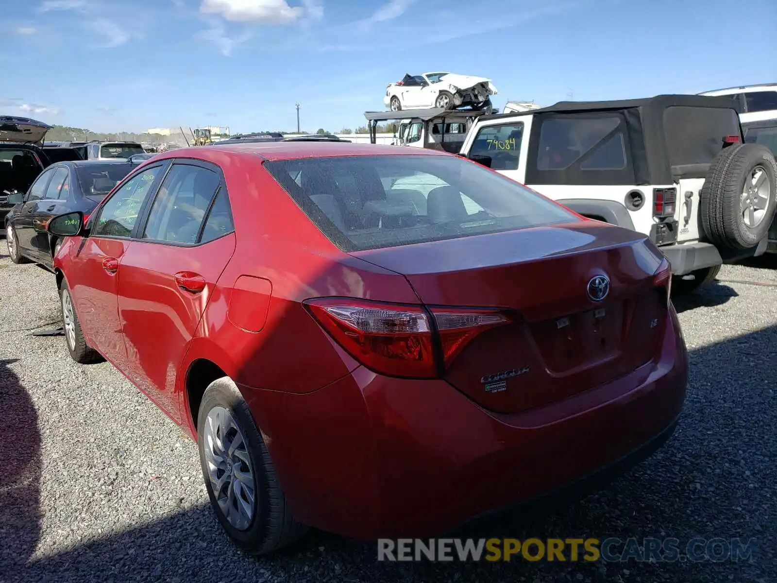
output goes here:
<path id="1" fill-rule="evenodd" d="M 671 106 L 664 111 L 664 134 L 671 166 L 709 164 L 723 138 L 740 134 L 739 117 L 722 107 Z"/>

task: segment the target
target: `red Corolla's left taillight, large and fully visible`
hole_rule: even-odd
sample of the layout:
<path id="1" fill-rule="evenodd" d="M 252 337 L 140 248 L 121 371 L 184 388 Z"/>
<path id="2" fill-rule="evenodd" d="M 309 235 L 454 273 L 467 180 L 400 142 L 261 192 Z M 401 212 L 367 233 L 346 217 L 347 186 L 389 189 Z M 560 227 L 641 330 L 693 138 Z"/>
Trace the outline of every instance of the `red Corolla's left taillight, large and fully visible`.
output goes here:
<path id="1" fill-rule="evenodd" d="M 318 298 L 305 305 L 362 365 L 414 379 L 437 378 L 479 333 L 510 321 L 496 310 L 428 309 L 354 298 Z"/>

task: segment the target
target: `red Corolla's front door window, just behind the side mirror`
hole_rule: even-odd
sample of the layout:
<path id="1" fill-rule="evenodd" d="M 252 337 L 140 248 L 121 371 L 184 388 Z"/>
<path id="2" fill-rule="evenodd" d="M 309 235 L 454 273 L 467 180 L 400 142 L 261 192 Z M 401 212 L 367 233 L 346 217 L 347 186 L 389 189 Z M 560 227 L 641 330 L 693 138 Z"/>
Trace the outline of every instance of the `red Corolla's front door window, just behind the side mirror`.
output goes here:
<path id="1" fill-rule="evenodd" d="M 141 207 L 151 192 L 162 166 L 132 176 L 106 201 L 92 229 L 92 236 L 129 237 L 138 222 Z"/>

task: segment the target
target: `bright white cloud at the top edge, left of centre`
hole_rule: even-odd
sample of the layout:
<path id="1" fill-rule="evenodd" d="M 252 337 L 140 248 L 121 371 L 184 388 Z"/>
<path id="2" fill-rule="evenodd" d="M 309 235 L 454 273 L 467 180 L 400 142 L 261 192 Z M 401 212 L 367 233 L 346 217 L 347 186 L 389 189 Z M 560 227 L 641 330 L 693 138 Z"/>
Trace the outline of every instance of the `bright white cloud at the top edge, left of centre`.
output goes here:
<path id="1" fill-rule="evenodd" d="M 288 24 L 305 16 L 319 19 L 323 16 L 320 2 L 307 0 L 304 3 L 305 6 L 290 6 L 286 0 L 202 0 L 200 12 L 258 24 Z"/>

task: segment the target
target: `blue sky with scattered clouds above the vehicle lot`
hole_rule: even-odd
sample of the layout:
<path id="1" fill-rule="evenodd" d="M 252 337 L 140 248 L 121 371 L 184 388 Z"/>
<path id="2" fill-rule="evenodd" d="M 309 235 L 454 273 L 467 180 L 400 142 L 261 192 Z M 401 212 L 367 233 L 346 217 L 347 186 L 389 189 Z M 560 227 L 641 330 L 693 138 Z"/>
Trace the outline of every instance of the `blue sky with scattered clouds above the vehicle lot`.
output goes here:
<path id="1" fill-rule="evenodd" d="M 364 124 L 406 72 L 508 99 L 777 82 L 774 0 L 2 0 L 0 114 L 92 131 Z M 9 74 L 13 72 L 13 74 Z"/>

